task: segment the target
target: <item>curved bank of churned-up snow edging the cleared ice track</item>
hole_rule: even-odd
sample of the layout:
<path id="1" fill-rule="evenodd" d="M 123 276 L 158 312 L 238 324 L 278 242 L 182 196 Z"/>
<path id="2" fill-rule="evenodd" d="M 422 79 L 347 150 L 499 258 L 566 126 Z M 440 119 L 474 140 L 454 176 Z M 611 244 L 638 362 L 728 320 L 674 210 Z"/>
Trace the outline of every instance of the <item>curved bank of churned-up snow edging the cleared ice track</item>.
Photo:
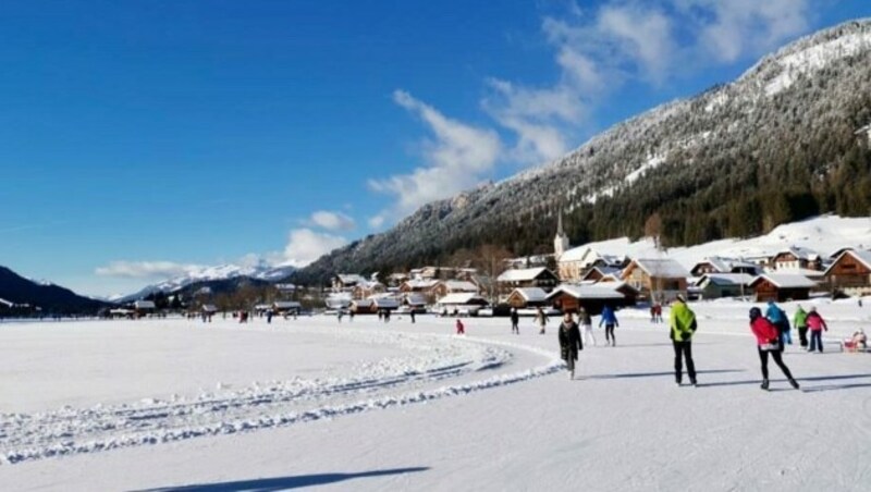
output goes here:
<path id="1" fill-rule="evenodd" d="M 409 355 L 352 366 L 345 373 L 354 377 L 254 383 L 191 399 L 147 398 L 135 404 L 0 415 L 0 464 L 285 427 L 465 395 L 564 368 L 554 353 L 514 343 L 409 333 L 343 336 L 400 345 Z M 547 362 L 489 374 L 513 369 L 512 350 L 533 353 Z M 456 381 L 463 377 L 471 381 Z"/>

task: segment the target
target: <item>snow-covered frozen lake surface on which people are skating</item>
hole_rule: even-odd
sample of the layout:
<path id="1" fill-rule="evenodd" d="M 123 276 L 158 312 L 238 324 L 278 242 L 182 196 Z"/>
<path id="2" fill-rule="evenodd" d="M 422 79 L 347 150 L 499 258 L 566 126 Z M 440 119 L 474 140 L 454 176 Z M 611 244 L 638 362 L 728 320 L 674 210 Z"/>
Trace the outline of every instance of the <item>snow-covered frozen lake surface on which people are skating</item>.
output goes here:
<path id="1" fill-rule="evenodd" d="M 643 310 L 577 381 L 555 319 L 0 324 L 0 490 L 868 490 L 871 356 L 835 341 L 871 307 L 805 304 L 826 352 L 768 393 L 731 300 L 694 305 L 695 389 Z"/>

